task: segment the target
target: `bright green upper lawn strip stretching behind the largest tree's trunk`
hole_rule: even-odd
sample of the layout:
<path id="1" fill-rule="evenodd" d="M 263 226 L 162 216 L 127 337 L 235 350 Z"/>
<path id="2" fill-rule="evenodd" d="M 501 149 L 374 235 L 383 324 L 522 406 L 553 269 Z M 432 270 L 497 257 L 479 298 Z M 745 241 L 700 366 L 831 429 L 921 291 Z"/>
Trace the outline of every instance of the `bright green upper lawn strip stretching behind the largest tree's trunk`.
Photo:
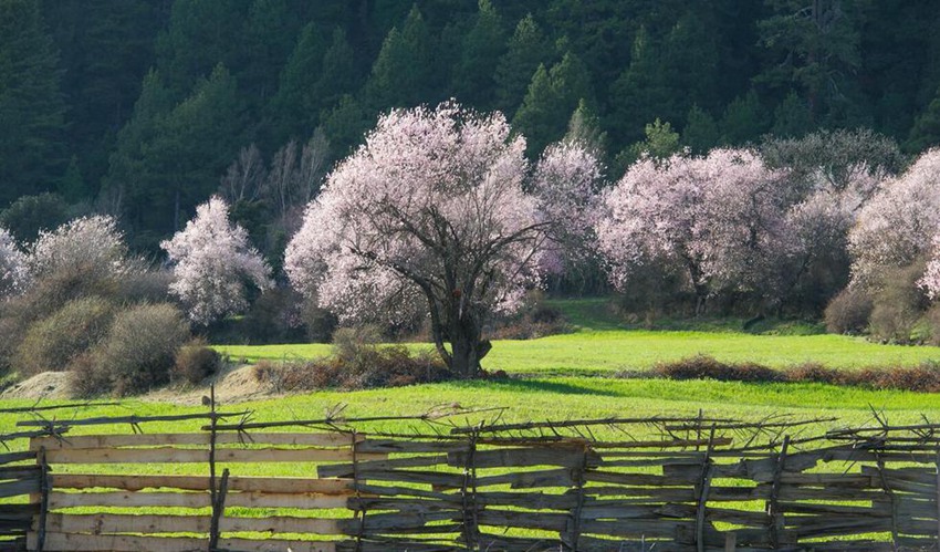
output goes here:
<path id="1" fill-rule="evenodd" d="M 940 347 L 880 345 L 845 335 L 804 335 L 810 324 L 777 324 L 762 334 L 745 333 L 734 320 L 672 323 L 690 330 L 640 330 L 619 326 L 600 300 L 555 301 L 575 324 L 568 334 L 528 341 L 497 341 L 484 358 L 488 369 L 534 376 L 598 375 L 647 369 L 660 361 L 706 354 L 727 362 L 756 362 L 783 368 L 805 362 L 829 367 L 916 365 L 940 361 Z M 783 331 L 781 330 L 783 329 Z M 796 335 L 785 333 L 796 333 Z M 784 333 L 784 334 L 781 334 Z M 427 344 L 410 344 L 429 348 Z M 221 345 L 233 360 L 300 360 L 328 355 L 330 345 Z"/>

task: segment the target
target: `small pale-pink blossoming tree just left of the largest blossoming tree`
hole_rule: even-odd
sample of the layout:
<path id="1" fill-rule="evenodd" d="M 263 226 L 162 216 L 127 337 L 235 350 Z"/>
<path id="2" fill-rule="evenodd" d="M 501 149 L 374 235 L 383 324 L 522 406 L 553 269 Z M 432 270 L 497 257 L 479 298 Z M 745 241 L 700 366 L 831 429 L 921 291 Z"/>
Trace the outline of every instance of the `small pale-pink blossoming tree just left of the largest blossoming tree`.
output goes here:
<path id="1" fill-rule="evenodd" d="M 197 324 L 209 324 L 247 306 L 246 283 L 273 285 L 271 269 L 248 242 L 248 232 L 229 221 L 229 206 L 215 196 L 173 239 L 163 241 L 174 263 L 170 292 Z"/>

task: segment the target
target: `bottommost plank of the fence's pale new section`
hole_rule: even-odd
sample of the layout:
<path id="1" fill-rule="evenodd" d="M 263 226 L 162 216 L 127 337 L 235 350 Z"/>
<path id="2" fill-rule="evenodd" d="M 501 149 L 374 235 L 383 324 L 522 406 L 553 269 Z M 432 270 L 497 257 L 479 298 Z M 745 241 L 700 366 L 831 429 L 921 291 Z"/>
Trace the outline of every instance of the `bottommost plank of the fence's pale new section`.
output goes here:
<path id="1" fill-rule="evenodd" d="M 46 552 L 192 552 L 205 550 L 207 543 L 208 539 L 179 537 L 49 532 L 45 534 L 44 550 Z M 27 535 L 27 546 L 30 550 L 35 549 L 36 534 L 34 532 Z M 289 549 L 293 552 L 335 552 L 336 544 L 326 541 L 219 539 L 219 549 L 243 552 L 284 552 Z"/>

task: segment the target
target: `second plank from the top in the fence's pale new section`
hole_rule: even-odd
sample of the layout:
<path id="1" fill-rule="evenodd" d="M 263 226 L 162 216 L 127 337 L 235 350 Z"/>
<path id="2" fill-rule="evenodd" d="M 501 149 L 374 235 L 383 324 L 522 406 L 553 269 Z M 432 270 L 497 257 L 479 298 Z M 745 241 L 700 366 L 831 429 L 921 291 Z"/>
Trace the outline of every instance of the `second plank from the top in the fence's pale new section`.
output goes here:
<path id="1" fill-rule="evenodd" d="M 384 460 L 388 455 L 362 454 L 356 457 L 359 460 Z M 217 462 L 333 462 L 352 459 L 353 451 L 344 449 L 222 448 L 216 450 Z M 208 464 L 209 450 L 174 447 L 59 449 L 46 451 L 46 461 L 49 464 Z"/>

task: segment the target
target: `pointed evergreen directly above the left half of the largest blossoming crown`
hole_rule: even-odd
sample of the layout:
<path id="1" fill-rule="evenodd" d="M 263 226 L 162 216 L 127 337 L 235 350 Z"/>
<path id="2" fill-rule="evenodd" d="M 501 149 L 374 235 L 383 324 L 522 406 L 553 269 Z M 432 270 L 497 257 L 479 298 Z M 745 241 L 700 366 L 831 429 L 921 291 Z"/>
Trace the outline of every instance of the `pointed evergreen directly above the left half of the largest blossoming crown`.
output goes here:
<path id="1" fill-rule="evenodd" d="M 428 90 L 430 67 L 428 29 L 415 6 L 401 31 L 393 27 L 382 43 L 366 83 L 368 106 L 385 111 L 420 104 Z"/>

